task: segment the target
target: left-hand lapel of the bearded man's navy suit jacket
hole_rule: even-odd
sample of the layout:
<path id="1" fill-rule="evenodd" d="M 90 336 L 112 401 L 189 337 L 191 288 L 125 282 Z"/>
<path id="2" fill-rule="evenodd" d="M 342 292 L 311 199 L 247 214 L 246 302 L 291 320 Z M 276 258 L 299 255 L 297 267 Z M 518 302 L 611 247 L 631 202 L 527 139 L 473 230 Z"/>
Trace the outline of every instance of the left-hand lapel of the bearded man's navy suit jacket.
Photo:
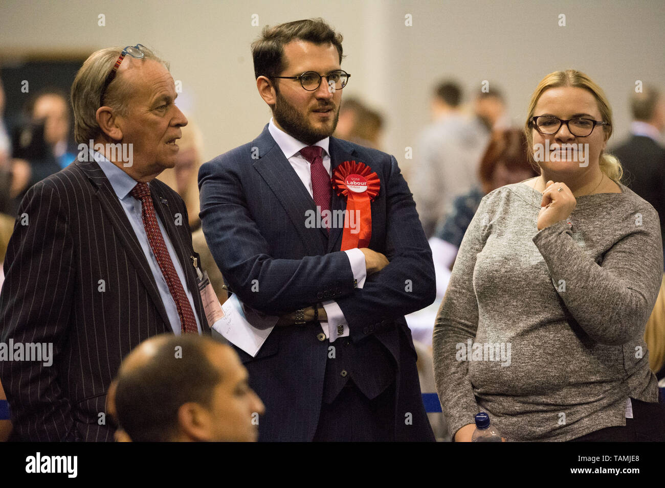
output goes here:
<path id="1" fill-rule="evenodd" d="M 270 135 L 267 125 L 252 145 L 259 149 L 259 159 L 254 163 L 254 168 L 286 210 L 309 253 L 322 254 L 324 250 L 321 243 L 313 239 L 311 230 L 305 227 L 307 212 L 316 212 L 314 200 L 275 139 Z M 323 239 L 321 241 L 325 242 Z"/>

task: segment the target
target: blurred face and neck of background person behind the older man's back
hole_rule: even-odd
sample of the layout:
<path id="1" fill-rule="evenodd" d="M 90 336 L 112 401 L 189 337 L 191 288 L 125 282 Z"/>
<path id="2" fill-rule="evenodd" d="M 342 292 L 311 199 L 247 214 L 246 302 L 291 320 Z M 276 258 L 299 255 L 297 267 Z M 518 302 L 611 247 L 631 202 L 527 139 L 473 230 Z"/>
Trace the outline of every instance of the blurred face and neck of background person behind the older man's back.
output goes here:
<path id="1" fill-rule="evenodd" d="M 55 89 L 45 90 L 30 102 L 27 110 L 33 121 L 44 124 L 44 140 L 60 167 L 66 168 L 78 154 L 70 139 L 71 117 L 66 94 Z"/>

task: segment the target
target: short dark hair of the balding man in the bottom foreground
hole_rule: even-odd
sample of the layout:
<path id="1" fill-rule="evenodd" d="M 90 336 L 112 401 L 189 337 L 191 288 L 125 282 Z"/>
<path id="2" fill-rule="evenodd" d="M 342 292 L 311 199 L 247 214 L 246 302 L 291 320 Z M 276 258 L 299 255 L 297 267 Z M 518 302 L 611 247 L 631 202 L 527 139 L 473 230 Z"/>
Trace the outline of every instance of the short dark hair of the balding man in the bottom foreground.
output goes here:
<path id="1" fill-rule="evenodd" d="M 178 409 L 188 402 L 209 408 L 219 370 L 206 348 L 213 339 L 169 335 L 146 363 L 120 367 L 116 388 L 118 424 L 134 442 L 168 442 L 178 432 Z M 181 349 L 176 357 L 176 347 Z"/>

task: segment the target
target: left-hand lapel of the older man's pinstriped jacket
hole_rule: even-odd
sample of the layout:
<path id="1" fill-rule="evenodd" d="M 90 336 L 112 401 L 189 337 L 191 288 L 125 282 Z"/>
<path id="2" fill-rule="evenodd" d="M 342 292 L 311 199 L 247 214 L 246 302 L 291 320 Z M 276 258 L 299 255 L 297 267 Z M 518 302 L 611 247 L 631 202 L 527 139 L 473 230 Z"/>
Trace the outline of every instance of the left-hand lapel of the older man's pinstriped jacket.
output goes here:
<path id="1" fill-rule="evenodd" d="M 148 262 L 146 262 L 146 257 L 143 254 L 141 244 L 138 242 L 136 234 L 134 234 L 134 230 L 118 200 L 118 196 L 113 191 L 106 175 L 104 175 L 104 171 L 102 171 L 96 161 L 75 161 L 74 164 L 82 169 L 82 171 L 88 176 L 88 179 L 90 179 L 92 184 L 97 188 L 97 198 L 102 204 L 102 208 L 104 208 L 108 220 L 116 230 L 116 234 L 119 236 L 122 244 L 124 244 L 124 251 L 134 265 L 136 274 L 138 274 L 139 278 L 145 285 L 146 290 L 148 290 L 148 295 L 152 298 L 164 323 L 170 324 L 171 321 L 166 314 L 166 309 L 162 303 L 162 297 L 154 282 L 150 266 L 148 266 Z"/>

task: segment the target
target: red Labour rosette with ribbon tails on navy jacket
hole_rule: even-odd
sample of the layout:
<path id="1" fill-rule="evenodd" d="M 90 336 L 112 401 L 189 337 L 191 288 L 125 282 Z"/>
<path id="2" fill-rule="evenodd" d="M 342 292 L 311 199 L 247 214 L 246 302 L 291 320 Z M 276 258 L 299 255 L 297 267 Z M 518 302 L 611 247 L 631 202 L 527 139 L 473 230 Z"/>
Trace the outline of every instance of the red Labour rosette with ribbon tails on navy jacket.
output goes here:
<path id="1" fill-rule="evenodd" d="M 342 251 L 353 248 L 366 248 L 372 238 L 372 209 L 381 187 L 378 175 L 365 163 L 344 161 L 336 167 L 332 175 L 332 188 L 340 197 L 346 197 Z M 353 212 L 353 214 L 351 214 Z M 349 220 L 355 222 L 350 225 Z"/>

